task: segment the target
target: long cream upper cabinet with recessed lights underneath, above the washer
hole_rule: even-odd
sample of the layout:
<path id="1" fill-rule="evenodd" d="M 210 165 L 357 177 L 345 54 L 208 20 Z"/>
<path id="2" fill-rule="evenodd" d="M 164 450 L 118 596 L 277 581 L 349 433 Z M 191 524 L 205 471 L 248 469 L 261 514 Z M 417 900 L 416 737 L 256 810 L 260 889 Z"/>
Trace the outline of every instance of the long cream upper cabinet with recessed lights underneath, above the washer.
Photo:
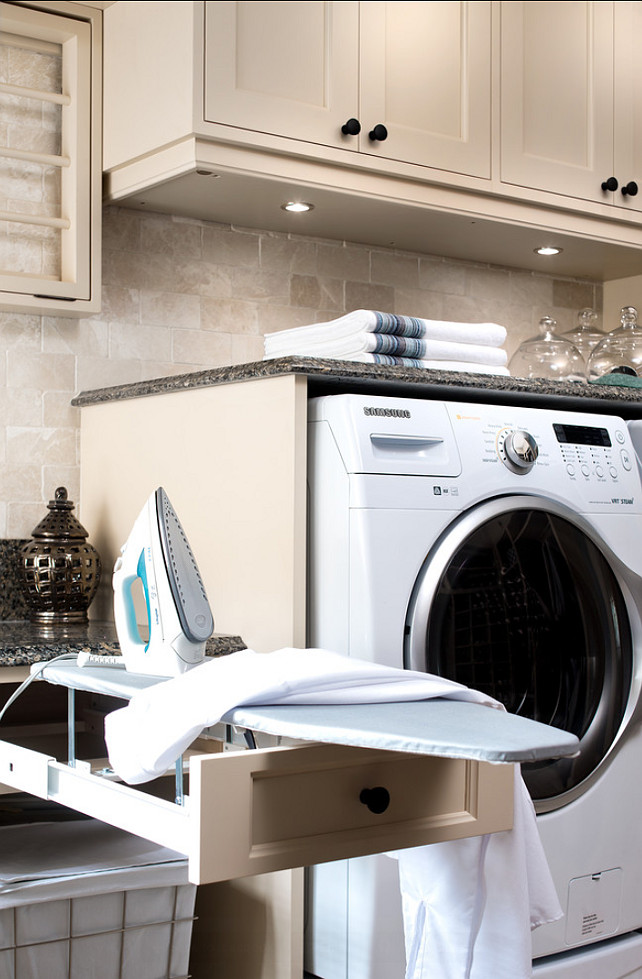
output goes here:
<path id="1" fill-rule="evenodd" d="M 532 269 L 554 236 L 560 274 L 638 274 L 641 27 L 642 0 L 118 0 L 106 199 Z"/>

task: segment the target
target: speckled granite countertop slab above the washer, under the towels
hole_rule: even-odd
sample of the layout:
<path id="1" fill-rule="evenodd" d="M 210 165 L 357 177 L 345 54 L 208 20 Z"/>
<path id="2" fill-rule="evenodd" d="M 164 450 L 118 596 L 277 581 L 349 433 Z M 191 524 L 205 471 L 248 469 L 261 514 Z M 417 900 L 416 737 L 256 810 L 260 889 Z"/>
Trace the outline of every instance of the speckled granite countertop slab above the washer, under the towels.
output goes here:
<path id="1" fill-rule="evenodd" d="M 261 377 L 275 377 L 283 374 L 304 374 L 311 379 L 335 382 L 341 386 L 351 382 L 362 384 L 377 382 L 392 387 L 395 384 L 414 385 L 430 389 L 431 394 L 440 393 L 443 388 L 451 398 L 458 392 L 470 397 L 472 391 L 488 396 L 519 396 L 520 401 L 542 396 L 562 398 L 580 404 L 582 401 L 612 406 L 629 405 L 642 412 L 642 392 L 635 388 L 582 384 L 570 381 L 551 381 L 546 379 L 527 379 L 522 377 L 501 377 L 492 374 L 472 374 L 459 371 L 439 371 L 417 367 L 386 367 L 379 364 L 359 364 L 346 360 L 324 360 L 315 357 L 280 357 L 274 360 L 261 360 L 248 364 L 235 364 L 230 367 L 217 367 L 211 370 L 190 374 L 175 374 L 154 380 L 133 384 L 121 384 L 109 388 L 83 391 L 72 400 L 76 407 L 102 404 L 108 401 L 124 401 L 131 398 L 148 397 L 157 394 L 170 394 L 192 388 L 211 387 L 215 384 L 230 384 Z M 444 395 L 445 396 L 445 395 Z"/>

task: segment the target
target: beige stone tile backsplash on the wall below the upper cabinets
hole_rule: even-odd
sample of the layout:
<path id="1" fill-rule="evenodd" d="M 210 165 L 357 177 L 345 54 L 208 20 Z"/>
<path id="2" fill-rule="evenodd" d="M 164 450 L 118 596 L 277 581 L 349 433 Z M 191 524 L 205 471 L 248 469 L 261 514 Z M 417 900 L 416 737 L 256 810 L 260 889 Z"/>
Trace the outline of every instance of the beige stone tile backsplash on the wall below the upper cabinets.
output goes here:
<path id="1" fill-rule="evenodd" d="M 602 306 L 593 282 L 434 255 L 117 207 L 103 228 L 99 315 L 0 313 L 0 538 L 29 537 L 56 486 L 78 499 L 82 390 L 260 360 L 264 333 L 359 307 L 498 322 L 510 356 L 542 316 Z"/>

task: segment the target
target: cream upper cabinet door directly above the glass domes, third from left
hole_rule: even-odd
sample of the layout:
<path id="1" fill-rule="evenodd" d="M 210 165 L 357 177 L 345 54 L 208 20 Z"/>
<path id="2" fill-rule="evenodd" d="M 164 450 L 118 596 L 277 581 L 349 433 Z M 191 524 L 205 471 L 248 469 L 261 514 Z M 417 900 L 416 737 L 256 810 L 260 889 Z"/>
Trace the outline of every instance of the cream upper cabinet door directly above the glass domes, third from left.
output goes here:
<path id="1" fill-rule="evenodd" d="M 504 183 L 612 202 L 613 6 L 501 4 Z"/>

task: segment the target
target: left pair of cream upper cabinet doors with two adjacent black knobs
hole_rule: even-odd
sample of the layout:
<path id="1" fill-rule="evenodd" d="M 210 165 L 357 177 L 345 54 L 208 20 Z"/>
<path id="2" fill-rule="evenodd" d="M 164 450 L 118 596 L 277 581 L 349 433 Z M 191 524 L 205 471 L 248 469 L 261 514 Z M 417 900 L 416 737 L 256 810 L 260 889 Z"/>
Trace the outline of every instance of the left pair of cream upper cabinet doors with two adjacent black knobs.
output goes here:
<path id="1" fill-rule="evenodd" d="M 206 122 L 490 177 L 490 3 L 205 5 Z"/>

